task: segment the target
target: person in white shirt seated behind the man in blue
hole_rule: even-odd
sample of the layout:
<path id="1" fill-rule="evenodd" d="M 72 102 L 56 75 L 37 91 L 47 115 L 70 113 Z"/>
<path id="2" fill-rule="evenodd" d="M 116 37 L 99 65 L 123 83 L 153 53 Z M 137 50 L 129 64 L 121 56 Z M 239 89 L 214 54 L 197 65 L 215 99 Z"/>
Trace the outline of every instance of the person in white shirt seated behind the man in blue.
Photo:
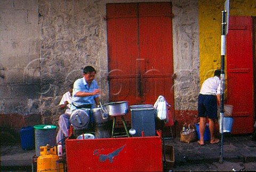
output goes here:
<path id="1" fill-rule="evenodd" d="M 71 103 L 72 103 L 72 91 L 73 91 L 73 84 L 69 85 L 69 91 L 63 94 L 59 107 L 60 109 L 65 109 L 65 114 L 60 115 L 59 117 L 59 131 L 56 137 L 57 143 L 61 142 L 63 145 L 65 137 L 68 136 L 68 130 L 70 126 L 70 115 L 71 115 Z"/>

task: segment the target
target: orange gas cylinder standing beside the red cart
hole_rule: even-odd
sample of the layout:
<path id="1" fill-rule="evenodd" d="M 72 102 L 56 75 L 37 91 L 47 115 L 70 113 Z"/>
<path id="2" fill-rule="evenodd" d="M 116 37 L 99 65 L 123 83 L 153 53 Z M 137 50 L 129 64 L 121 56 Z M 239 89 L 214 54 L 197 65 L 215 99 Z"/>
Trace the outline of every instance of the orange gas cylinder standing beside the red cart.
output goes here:
<path id="1" fill-rule="evenodd" d="M 60 169 L 60 167 L 62 168 Z M 63 165 L 60 164 L 56 147 L 51 147 L 49 144 L 45 147 L 40 147 L 40 156 L 37 158 L 37 171 L 63 171 Z"/>

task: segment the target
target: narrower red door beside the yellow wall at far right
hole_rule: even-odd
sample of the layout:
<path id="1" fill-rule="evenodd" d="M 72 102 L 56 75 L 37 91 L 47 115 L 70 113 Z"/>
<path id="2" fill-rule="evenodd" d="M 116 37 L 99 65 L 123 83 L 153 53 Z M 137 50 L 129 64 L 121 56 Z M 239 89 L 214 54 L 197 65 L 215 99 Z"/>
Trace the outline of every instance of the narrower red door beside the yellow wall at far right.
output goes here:
<path id="1" fill-rule="evenodd" d="M 227 35 L 227 104 L 233 105 L 233 134 L 254 124 L 252 18 L 230 16 Z"/>

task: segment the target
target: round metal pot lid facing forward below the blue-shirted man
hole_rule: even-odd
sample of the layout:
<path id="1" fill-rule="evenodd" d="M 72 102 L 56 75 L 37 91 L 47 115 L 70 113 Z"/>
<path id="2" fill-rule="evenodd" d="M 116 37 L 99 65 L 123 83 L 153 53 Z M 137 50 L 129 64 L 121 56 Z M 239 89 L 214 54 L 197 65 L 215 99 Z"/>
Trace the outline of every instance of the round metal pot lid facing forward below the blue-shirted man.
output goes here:
<path id="1" fill-rule="evenodd" d="M 89 110 L 77 109 L 71 113 L 70 123 L 75 128 L 86 129 L 89 127 L 89 122 L 90 122 L 90 111 Z"/>

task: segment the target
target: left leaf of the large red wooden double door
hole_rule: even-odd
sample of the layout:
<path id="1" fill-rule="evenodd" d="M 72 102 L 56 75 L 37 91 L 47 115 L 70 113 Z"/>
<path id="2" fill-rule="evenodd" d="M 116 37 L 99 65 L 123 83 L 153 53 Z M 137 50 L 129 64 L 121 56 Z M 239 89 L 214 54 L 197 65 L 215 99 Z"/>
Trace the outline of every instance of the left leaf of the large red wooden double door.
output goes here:
<path id="1" fill-rule="evenodd" d="M 136 99 L 138 58 L 137 4 L 108 4 L 110 101 Z"/>

